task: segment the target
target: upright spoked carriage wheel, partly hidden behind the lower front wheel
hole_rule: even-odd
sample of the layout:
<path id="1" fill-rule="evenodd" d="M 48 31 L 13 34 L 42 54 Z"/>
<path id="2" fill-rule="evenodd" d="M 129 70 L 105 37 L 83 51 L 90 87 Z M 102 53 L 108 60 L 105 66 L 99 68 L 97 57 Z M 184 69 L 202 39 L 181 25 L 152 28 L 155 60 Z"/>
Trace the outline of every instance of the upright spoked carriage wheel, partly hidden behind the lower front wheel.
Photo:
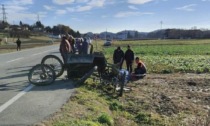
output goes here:
<path id="1" fill-rule="evenodd" d="M 41 64 L 49 65 L 55 71 L 56 77 L 60 77 L 64 72 L 63 62 L 55 55 L 45 56 L 44 58 L 42 58 Z"/>

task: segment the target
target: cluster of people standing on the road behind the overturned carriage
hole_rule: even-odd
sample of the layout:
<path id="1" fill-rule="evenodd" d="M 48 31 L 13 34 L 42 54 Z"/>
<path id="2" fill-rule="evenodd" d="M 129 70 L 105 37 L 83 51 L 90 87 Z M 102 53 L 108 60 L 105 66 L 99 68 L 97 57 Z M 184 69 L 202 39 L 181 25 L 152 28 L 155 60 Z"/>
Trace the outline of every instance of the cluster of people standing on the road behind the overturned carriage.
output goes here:
<path id="1" fill-rule="evenodd" d="M 89 45 L 91 45 L 91 41 L 88 38 L 75 39 L 71 35 L 62 36 L 59 50 L 64 64 L 67 62 L 68 53 L 88 54 Z"/>

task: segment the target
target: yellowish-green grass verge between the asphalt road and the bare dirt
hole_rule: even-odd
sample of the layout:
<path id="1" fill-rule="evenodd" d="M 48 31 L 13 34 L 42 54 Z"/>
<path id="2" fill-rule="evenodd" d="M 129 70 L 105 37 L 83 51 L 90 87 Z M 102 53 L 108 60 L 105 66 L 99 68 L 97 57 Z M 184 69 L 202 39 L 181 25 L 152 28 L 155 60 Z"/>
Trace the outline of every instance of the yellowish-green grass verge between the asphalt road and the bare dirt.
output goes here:
<path id="1" fill-rule="evenodd" d="M 122 98 L 116 99 L 96 88 L 90 88 L 92 84 L 85 83 L 78 88 L 60 112 L 43 121 L 42 124 L 46 126 L 164 125 L 159 115 L 146 111 L 132 113 L 128 109 L 129 106 L 124 105 Z"/>

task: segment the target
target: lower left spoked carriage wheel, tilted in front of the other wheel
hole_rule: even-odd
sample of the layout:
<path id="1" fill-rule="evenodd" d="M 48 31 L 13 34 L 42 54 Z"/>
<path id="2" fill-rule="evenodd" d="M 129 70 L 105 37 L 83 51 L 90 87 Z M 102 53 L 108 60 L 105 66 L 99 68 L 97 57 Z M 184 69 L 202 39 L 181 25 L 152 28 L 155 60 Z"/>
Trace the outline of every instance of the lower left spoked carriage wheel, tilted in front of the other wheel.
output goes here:
<path id="1" fill-rule="evenodd" d="M 55 81 L 55 72 L 46 64 L 37 64 L 29 71 L 28 80 L 37 86 L 49 85 Z"/>

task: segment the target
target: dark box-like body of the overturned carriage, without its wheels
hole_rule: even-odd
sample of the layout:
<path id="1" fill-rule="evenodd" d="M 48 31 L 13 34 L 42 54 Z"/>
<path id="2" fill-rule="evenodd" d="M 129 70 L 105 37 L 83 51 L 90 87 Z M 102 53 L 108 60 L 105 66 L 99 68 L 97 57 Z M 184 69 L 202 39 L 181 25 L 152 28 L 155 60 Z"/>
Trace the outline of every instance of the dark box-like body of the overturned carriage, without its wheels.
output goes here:
<path id="1" fill-rule="evenodd" d="M 105 69 L 106 59 L 103 53 L 68 54 L 67 63 L 65 64 L 68 79 L 81 78 L 95 66 L 97 66 L 98 72 Z"/>

